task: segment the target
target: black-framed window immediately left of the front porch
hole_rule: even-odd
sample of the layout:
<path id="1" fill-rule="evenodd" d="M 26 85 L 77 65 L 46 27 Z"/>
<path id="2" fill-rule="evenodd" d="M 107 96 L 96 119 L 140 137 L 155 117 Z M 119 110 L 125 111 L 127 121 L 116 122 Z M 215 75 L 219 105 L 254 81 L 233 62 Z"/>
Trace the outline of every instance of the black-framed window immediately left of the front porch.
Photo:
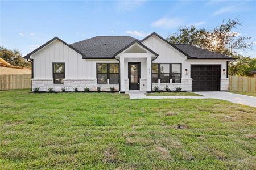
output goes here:
<path id="1" fill-rule="evenodd" d="M 97 63 L 97 83 L 119 83 L 119 63 Z"/>

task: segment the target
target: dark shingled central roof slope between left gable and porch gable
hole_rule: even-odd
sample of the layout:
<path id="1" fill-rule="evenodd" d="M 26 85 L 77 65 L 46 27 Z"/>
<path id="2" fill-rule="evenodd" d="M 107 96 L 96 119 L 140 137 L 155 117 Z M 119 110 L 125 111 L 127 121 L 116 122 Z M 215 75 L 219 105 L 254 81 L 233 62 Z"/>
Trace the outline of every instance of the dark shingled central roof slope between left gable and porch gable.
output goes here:
<path id="1" fill-rule="evenodd" d="M 96 36 L 70 45 L 83 53 L 84 58 L 114 58 L 115 53 L 135 40 L 130 36 Z"/>

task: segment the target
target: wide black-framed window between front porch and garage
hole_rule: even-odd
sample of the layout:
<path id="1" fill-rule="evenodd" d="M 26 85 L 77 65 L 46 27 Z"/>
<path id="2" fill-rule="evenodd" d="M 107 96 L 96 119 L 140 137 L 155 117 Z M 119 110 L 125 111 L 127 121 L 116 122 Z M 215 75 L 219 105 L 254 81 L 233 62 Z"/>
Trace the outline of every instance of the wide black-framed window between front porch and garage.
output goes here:
<path id="1" fill-rule="evenodd" d="M 152 63 L 152 83 L 181 83 L 181 63 Z"/>

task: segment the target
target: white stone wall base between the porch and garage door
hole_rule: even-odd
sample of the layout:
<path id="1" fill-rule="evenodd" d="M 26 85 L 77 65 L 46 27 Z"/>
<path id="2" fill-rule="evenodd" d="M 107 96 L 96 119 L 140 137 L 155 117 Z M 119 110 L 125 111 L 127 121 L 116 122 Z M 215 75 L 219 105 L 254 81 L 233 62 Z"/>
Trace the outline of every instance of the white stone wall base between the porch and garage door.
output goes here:
<path id="1" fill-rule="evenodd" d="M 164 90 L 165 87 L 169 86 L 169 88 L 174 91 L 176 87 L 182 88 L 183 91 L 192 91 L 192 79 L 181 79 L 181 83 L 171 83 L 172 79 L 170 79 L 170 83 L 160 83 L 160 79 L 158 79 L 158 83 L 152 83 L 152 91 L 154 91 L 154 87 L 158 86 L 159 90 Z"/>

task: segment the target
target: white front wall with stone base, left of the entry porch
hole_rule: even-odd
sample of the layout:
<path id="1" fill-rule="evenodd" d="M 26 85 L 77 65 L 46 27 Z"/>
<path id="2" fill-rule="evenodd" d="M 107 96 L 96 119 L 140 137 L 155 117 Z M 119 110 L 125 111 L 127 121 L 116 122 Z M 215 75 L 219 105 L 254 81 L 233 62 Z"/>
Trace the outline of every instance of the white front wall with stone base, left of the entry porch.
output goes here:
<path id="1" fill-rule="evenodd" d="M 96 79 L 96 63 L 118 63 L 116 59 L 82 59 L 81 54 L 59 40 L 32 54 L 31 58 L 34 60 L 32 87 L 40 87 L 40 91 L 47 91 L 49 87 L 55 88 L 55 91 L 60 91 L 61 87 L 67 87 L 68 91 L 73 91 L 73 87 L 78 87 L 80 91 L 85 87 L 96 90 L 97 86 L 101 86 L 102 90 L 108 90 L 110 86 L 119 88 L 119 84 L 97 84 Z M 64 84 L 53 84 L 54 62 L 65 63 Z"/>

